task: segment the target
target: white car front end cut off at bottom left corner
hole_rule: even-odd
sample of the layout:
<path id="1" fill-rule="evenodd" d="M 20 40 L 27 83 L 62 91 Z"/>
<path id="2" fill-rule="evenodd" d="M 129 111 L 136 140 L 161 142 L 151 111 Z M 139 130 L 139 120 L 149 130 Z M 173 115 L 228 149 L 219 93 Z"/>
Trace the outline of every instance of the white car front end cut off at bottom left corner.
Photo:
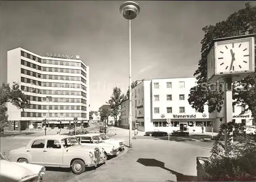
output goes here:
<path id="1" fill-rule="evenodd" d="M 0 153 L 0 181 L 13 182 L 39 182 L 45 175 L 44 166 L 24 163 L 13 163 L 5 160 Z"/>

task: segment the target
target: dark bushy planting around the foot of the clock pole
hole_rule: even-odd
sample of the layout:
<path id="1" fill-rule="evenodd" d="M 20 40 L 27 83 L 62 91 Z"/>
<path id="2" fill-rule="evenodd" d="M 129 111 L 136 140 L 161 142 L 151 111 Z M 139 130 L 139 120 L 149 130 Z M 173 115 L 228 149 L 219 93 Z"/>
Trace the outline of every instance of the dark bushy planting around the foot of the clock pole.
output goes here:
<path id="1" fill-rule="evenodd" d="M 224 130 L 227 130 L 228 148 L 220 140 L 223 139 Z M 231 135 L 231 131 L 233 134 Z M 238 141 L 231 144 L 230 138 Z M 220 126 L 215 139 L 211 156 L 204 161 L 204 180 L 208 181 L 252 181 L 256 180 L 256 145 L 244 132 L 240 123 L 229 122 Z"/>

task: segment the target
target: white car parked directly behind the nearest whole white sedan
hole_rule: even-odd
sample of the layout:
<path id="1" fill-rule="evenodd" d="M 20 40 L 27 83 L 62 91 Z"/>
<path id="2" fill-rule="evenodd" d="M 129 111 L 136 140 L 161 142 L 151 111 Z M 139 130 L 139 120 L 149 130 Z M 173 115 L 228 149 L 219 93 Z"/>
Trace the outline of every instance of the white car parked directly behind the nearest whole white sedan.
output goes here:
<path id="1" fill-rule="evenodd" d="M 98 135 L 96 134 L 79 134 L 75 135 L 75 138 L 84 146 L 94 146 L 104 148 L 106 156 L 119 154 L 119 145 L 105 143 Z"/>

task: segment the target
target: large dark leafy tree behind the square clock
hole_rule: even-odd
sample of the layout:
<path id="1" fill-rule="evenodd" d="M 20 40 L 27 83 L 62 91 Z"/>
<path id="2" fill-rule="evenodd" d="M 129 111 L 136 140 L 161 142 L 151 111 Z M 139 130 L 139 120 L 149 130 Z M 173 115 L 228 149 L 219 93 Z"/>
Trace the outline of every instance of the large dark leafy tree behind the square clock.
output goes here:
<path id="1" fill-rule="evenodd" d="M 190 89 L 188 96 L 189 104 L 199 112 L 204 111 L 207 103 L 209 112 L 217 110 L 220 112 L 223 106 L 223 85 L 207 85 L 207 50 L 214 38 L 231 37 L 245 34 L 256 33 L 256 6 L 245 4 L 245 8 L 234 12 L 225 21 L 218 22 L 216 25 L 209 25 L 202 29 L 205 33 L 201 41 L 201 59 L 199 67 L 194 73 L 198 80 L 197 86 Z M 238 86 L 240 88 L 238 88 Z M 248 105 L 252 112 L 252 117 L 256 118 L 256 74 L 235 82 L 233 84 L 233 105 Z M 210 88 L 210 89 L 209 89 Z M 244 92 L 246 91 L 246 92 Z M 247 111 L 246 110 L 246 111 Z M 242 113 L 241 113 L 242 114 Z"/>

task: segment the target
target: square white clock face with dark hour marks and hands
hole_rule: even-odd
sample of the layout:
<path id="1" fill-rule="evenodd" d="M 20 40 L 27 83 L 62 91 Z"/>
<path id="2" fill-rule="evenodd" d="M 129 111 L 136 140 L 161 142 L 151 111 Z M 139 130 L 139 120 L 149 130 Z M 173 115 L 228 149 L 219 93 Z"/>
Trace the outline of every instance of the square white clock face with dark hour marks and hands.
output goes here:
<path id="1" fill-rule="evenodd" d="M 217 42 L 216 73 L 250 70 L 250 39 Z"/>

